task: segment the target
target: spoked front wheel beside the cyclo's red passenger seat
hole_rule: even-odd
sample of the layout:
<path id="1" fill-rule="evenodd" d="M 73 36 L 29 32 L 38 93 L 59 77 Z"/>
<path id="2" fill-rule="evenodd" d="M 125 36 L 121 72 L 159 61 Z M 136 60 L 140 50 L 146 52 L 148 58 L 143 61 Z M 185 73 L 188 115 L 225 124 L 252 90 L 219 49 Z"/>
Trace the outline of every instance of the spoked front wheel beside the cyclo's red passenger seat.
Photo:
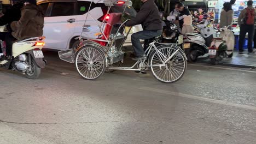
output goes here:
<path id="1" fill-rule="evenodd" d="M 75 67 L 84 79 L 97 79 L 106 69 L 105 55 L 98 47 L 82 47 L 75 56 Z"/>

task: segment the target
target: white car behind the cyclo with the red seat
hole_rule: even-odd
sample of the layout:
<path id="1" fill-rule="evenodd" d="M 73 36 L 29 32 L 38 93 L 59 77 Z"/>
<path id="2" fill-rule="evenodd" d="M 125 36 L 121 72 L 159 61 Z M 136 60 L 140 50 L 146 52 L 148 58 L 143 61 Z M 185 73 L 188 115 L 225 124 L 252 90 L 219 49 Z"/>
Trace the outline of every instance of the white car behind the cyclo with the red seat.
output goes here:
<path id="1" fill-rule="evenodd" d="M 125 2 L 118 0 L 110 9 L 110 13 L 122 13 L 125 8 Z M 131 3 L 131 1 L 129 1 Z M 88 38 L 96 38 L 98 32 L 98 22 L 102 22 L 107 13 L 107 4 L 104 0 L 98 3 L 92 3 L 90 15 L 88 10 L 90 0 L 42 0 L 37 4 L 44 11 L 44 33 L 45 48 L 55 50 L 75 49 L 78 46 L 78 37 L 83 31 L 83 26 L 89 26 L 89 31 L 83 31 L 83 35 Z M 131 16 L 136 16 L 136 11 L 133 7 L 126 7 L 126 13 Z M 85 24 L 86 15 L 88 15 L 87 23 Z M 106 18 L 106 17 L 105 17 Z M 95 21 L 96 20 L 96 21 Z M 85 25 L 84 25 L 85 24 Z M 131 45 L 131 34 L 142 31 L 142 26 L 137 25 L 132 27 L 132 30 L 127 37 L 124 45 Z"/>

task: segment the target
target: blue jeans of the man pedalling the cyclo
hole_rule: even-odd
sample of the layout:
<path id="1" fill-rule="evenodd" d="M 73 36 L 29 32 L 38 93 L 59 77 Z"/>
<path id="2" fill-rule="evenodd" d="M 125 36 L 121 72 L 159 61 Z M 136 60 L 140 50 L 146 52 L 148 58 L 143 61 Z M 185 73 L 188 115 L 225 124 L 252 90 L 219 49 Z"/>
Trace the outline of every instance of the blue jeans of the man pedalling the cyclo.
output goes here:
<path id="1" fill-rule="evenodd" d="M 142 56 L 145 54 L 141 42 L 139 40 L 151 39 L 162 34 L 162 29 L 156 31 L 140 31 L 131 35 L 132 46 L 135 52 L 135 56 Z"/>

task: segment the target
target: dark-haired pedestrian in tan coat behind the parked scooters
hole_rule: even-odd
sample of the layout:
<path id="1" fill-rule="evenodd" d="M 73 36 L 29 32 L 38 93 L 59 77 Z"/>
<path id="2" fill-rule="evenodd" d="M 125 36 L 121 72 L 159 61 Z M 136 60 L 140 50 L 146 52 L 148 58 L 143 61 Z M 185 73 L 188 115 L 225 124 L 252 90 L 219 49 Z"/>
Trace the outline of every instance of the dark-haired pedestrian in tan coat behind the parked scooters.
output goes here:
<path id="1" fill-rule="evenodd" d="M 220 13 L 219 28 L 228 27 L 232 25 L 234 11 L 230 2 L 225 2 L 223 4 L 222 12 Z"/>

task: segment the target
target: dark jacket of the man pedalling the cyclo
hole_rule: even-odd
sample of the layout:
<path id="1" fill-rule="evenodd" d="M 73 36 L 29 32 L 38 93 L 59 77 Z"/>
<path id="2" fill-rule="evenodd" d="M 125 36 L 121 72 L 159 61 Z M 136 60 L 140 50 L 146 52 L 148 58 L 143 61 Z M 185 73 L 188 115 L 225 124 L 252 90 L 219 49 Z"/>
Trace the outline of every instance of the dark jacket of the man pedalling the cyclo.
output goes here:
<path id="1" fill-rule="evenodd" d="M 142 25 L 144 30 L 155 31 L 162 29 L 160 13 L 153 0 L 144 2 L 136 17 L 125 23 L 129 27 L 139 24 Z"/>

